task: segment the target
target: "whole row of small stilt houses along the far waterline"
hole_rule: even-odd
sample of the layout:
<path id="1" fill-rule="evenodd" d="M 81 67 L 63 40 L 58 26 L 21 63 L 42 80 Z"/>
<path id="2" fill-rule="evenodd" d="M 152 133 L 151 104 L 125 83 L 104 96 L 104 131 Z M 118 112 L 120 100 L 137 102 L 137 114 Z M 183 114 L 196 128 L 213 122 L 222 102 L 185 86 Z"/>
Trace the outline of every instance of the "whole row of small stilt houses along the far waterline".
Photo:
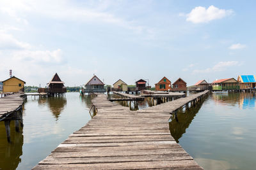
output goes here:
<path id="1" fill-rule="evenodd" d="M 7 80 L 0 81 L 0 90 L 3 92 L 24 92 L 25 81 L 11 76 Z M 122 80 L 118 80 L 113 84 L 111 90 L 114 91 L 140 91 L 147 89 L 147 81 L 140 79 L 135 82 L 136 86 L 129 87 L 127 83 Z M 179 78 L 174 83 L 172 83 L 165 76 L 155 84 L 157 91 L 186 91 L 187 83 L 186 81 Z M 239 90 L 239 89 L 255 89 L 256 88 L 256 77 L 254 75 L 240 75 L 237 80 L 235 78 L 225 78 L 221 80 L 213 81 L 208 83 L 205 80 L 198 81 L 188 90 L 202 91 L 202 90 Z M 46 88 L 38 89 L 38 92 L 45 92 L 48 94 L 62 94 L 67 92 L 67 88 L 64 86 L 64 82 L 61 81 L 58 74 L 54 74 L 51 81 L 47 83 Z M 83 92 L 106 92 L 104 88 L 104 83 L 95 75 L 84 85 Z"/>

